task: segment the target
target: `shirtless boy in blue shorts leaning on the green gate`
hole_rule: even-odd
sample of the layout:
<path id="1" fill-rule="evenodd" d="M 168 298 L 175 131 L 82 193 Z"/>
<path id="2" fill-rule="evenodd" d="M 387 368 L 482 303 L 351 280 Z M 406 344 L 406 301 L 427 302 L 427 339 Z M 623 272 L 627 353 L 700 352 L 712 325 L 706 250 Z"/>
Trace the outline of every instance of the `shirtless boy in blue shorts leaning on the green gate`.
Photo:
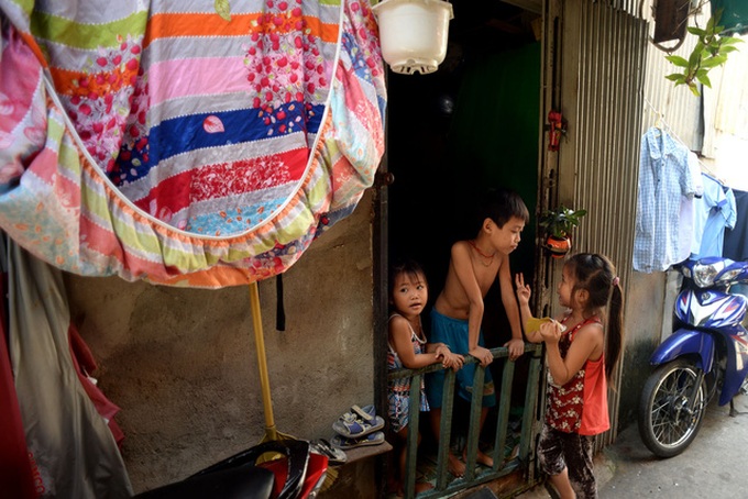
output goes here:
<path id="1" fill-rule="evenodd" d="M 431 335 L 429 341 L 447 344 L 455 354 L 470 354 L 486 367 L 494 359 L 491 351 L 483 346 L 481 323 L 485 304 L 483 298 L 498 278 L 502 302 L 509 319 L 512 340 L 504 346 L 509 358 L 516 361 L 525 353 L 525 342 L 519 322 L 519 308 L 512 286 L 509 253 L 517 248 L 520 233 L 529 221 L 525 202 L 514 191 L 492 191 L 481 213 L 483 222 L 474 240 L 458 241 L 452 245 L 451 258 L 444 288 L 431 310 Z M 457 374 L 458 395 L 470 400 L 475 364 L 465 365 Z M 496 406 L 496 393 L 491 370 L 485 372 L 483 387 L 483 410 L 481 428 L 488 409 Z M 441 402 L 444 372 L 429 376 L 426 392 L 431 406 L 431 426 L 437 439 L 440 435 Z M 479 451 L 479 463 L 493 466 L 493 459 Z M 462 476 L 465 465 L 449 454 L 449 470 Z"/>

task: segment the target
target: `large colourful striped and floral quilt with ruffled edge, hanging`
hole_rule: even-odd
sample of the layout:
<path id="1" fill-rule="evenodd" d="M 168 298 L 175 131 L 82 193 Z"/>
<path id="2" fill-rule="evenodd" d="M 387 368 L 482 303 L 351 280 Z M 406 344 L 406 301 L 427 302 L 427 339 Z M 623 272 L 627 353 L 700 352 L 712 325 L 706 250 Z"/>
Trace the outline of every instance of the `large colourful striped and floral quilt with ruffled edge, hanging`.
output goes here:
<path id="1" fill-rule="evenodd" d="M 0 0 L 0 228 L 64 270 L 286 270 L 384 151 L 367 1 Z"/>

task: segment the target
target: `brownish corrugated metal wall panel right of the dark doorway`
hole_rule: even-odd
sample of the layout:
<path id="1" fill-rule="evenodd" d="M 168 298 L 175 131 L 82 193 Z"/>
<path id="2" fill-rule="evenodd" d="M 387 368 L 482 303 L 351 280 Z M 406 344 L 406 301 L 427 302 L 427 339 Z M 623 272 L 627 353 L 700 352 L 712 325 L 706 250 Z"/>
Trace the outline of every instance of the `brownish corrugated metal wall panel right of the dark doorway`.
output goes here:
<path id="1" fill-rule="evenodd" d="M 647 22 L 636 15 L 639 2 L 549 3 L 547 25 L 556 26 L 556 33 L 547 34 L 543 102 L 546 113 L 561 110 L 569 124 L 560 151 L 543 158 L 540 208 L 563 203 L 587 209 L 574 252 L 610 257 L 626 292 L 632 271 Z M 541 299 L 558 307 L 552 290 L 561 265 L 544 258 L 539 268 Z M 614 430 L 598 440 L 601 446 L 615 439 L 617 390 L 610 390 L 608 403 Z"/>

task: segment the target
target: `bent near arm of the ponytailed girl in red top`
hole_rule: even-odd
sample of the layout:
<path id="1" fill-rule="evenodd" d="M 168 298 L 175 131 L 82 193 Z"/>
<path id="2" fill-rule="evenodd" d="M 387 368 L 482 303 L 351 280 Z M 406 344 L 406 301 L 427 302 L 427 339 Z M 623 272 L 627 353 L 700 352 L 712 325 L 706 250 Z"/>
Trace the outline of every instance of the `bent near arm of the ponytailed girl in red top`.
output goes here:
<path id="1" fill-rule="evenodd" d="M 603 328 L 600 324 L 587 324 L 576 332 L 565 358 L 561 358 L 559 340 L 562 332 L 561 324 L 557 321 L 540 325 L 540 334 L 547 346 L 548 369 L 558 385 L 569 382 L 587 359 L 600 358 L 603 353 Z"/>

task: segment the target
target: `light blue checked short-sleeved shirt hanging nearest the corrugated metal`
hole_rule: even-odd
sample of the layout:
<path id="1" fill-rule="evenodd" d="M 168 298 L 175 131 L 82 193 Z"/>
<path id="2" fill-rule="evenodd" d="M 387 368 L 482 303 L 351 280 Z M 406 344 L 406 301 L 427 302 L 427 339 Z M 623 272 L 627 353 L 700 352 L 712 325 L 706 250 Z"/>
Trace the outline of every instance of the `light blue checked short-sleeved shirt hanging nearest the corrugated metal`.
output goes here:
<path id="1" fill-rule="evenodd" d="M 641 137 L 634 269 L 652 273 L 681 262 L 680 217 L 683 197 L 696 193 L 689 149 L 664 130 Z"/>

